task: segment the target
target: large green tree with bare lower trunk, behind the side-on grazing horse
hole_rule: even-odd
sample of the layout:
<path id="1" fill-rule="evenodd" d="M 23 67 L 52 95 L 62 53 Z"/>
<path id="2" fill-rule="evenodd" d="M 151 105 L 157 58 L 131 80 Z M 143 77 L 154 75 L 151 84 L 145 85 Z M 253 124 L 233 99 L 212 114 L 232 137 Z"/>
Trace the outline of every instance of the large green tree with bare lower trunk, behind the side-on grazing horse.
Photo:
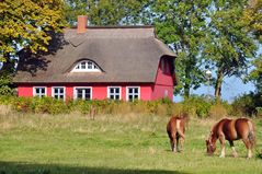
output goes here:
<path id="1" fill-rule="evenodd" d="M 258 50 L 249 24 L 241 20 L 244 7 L 247 1 L 243 0 L 217 0 L 210 8 L 204 57 L 216 68 L 217 98 L 221 95 L 224 78 L 244 74 Z"/>

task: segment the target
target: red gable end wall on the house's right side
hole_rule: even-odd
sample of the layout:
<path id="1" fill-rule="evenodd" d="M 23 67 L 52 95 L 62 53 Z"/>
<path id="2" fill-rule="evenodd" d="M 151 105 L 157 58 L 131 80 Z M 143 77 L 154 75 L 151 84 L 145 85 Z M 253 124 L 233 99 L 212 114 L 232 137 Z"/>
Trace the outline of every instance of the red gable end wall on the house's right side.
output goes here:
<path id="1" fill-rule="evenodd" d="M 161 61 L 164 62 L 164 66 L 161 65 Z M 152 88 L 152 100 L 158 100 L 164 96 L 169 97 L 171 101 L 173 100 L 174 81 L 171 74 L 171 69 L 173 68 L 171 66 L 172 61 L 172 58 L 161 58 L 156 77 L 156 83 Z"/>

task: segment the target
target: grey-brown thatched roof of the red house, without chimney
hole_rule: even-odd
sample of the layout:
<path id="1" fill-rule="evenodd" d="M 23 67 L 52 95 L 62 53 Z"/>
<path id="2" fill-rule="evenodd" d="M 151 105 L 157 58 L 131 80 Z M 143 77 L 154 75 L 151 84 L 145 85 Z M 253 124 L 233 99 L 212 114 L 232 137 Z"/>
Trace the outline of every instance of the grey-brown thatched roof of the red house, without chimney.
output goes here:
<path id="1" fill-rule="evenodd" d="M 48 54 L 21 51 L 14 82 L 155 82 L 162 56 L 175 57 L 152 26 L 88 27 L 83 34 L 67 28 Z M 82 59 L 94 61 L 102 72 L 70 72 Z"/>

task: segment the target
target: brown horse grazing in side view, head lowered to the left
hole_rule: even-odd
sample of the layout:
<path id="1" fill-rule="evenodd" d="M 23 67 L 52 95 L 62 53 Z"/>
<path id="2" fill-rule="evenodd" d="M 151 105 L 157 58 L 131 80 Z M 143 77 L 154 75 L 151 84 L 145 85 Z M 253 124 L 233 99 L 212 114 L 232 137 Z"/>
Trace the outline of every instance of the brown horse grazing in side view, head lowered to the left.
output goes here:
<path id="1" fill-rule="evenodd" d="M 246 148 L 248 149 L 248 158 L 252 156 L 252 148 L 254 147 L 254 127 L 250 119 L 238 118 L 229 119 L 224 118 L 213 126 L 208 140 L 206 140 L 207 153 L 213 154 L 216 150 L 216 140 L 219 139 L 221 144 L 220 158 L 225 158 L 225 141 L 228 140 L 232 148 L 233 156 L 238 156 L 233 141 L 242 139 Z"/>

